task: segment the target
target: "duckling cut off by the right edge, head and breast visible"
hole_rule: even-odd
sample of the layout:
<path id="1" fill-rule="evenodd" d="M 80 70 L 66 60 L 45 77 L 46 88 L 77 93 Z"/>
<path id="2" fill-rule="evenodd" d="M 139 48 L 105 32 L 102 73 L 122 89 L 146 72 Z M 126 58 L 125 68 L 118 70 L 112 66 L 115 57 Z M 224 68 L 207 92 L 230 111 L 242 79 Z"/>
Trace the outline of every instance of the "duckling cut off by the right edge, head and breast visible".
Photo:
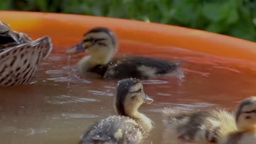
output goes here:
<path id="1" fill-rule="evenodd" d="M 256 97 L 249 97 L 237 106 L 235 121 L 238 131 L 219 140 L 219 144 L 256 143 Z"/>

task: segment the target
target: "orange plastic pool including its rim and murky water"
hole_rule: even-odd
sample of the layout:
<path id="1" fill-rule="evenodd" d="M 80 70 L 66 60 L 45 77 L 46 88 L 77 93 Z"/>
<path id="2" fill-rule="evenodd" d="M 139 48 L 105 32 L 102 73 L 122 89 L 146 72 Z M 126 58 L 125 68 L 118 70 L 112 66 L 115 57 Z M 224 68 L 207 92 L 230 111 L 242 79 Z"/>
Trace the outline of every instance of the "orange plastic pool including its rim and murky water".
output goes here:
<path id="1" fill-rule="evenodd" d="M 118 55 L 135 53 L 186 62 L 180 77 L 143 81 L 144 91 L 154 99 L 139 109 L 155 122 L 146 143 L 173 140 L 162 123 L 164 107 L 234 110 L 237 101 L 256 95 L 256 43 L 252 41 L 106 17 L 22 11 L 0 11 L 0 17 L 33 39 L 49 35 L 54 44 L 31 85 L 0 87 L 1 143 L 78 143 L 91 124 L 113 114 L 117 82 L 80 77 L 73 66 L 85 53 L 71 58 L 65 53 L 95 26 L 109 27 L 117 34 Z"/>

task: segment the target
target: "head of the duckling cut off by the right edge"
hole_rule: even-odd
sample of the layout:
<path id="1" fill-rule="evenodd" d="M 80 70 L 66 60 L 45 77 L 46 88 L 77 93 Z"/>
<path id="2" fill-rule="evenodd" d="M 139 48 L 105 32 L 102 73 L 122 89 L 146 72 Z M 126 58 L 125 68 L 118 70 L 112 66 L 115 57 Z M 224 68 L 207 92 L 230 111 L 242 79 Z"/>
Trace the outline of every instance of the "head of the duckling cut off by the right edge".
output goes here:
<path id="1" fill-rule="evenodd" d="M 239 131 L 256 130 L 256 97 L 241 101 L 236 109 L 236 126 Z"/>

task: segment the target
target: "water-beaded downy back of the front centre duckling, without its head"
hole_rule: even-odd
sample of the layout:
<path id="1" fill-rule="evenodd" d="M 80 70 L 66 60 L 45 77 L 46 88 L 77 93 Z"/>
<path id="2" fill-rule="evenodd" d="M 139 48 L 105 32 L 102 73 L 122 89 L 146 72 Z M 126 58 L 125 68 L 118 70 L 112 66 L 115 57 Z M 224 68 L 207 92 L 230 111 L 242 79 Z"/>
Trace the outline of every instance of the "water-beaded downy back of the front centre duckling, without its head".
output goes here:
<path id="1" fill-rule="evenodd" d="M 79 143 L 140 143 L 150 130 L 139 119 L 108 116 L 92 125 Z"/>

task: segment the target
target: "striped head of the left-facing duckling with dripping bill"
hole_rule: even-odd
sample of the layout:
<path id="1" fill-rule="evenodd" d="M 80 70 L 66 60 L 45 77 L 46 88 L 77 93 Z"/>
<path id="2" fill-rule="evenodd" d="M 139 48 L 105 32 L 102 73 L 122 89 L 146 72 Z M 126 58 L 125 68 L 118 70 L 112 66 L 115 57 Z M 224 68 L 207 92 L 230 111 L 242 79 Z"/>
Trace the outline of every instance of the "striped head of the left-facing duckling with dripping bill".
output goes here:
<path id="1" fill-rule="evenodd" d="M 88 52 L 91 57 L 107 63 L 117 51 L 117 40 L 114 33 L 106 27 L 92 28 L 85 32 L 80 43 L 66 50 L 66 53 L 81 51 Z"/>

